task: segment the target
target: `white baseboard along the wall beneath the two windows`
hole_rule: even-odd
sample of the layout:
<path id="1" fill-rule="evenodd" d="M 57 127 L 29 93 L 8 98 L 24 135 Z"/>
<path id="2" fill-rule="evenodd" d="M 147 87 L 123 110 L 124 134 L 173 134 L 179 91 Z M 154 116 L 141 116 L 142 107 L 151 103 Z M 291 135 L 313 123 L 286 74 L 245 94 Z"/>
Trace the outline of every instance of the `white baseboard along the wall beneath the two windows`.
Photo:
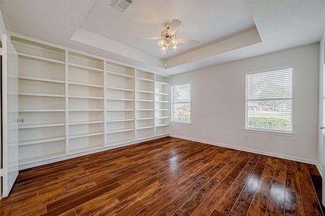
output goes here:
<path id="1" fill-rule="evenodd" d="M 240 146 L 236 146 L 236 145 L 223 144 L 223 143 L 195 139 L 195 138 L 190 138 L 190 137 L 182 137 L 182 136 L 173 135 L 173 134 L 170 134 L 169 136 L 175 137 L 175 138 L 180 138 L 180 139 L 186 139 L 186 140 L 190 140 L 190 141 L 202 142 L 202 143 L 216 145 L 216 146 L 225 147 L 225 148 L 231 148 L 231 149 L 236 149 L 236 150 L 241 150 L 241 151 L 248 151 L 251 153 L 258 153 L 260 155 L 266 155 L 266 156 L 271 156 L 271 157 L 276 157 L 276 158 L 287 159 L 287 160 L 291 160 L 291 161 L 313 164 L 313 165 L 316 165 L 320 175 L 322 176 L 322 169 L 321 169 L 321 166 L 318 161 L 309 160 L 309 159 L 305 159 L 305 158 L 298 158 L 298 157 L 288 156 L 288 155 L 281 155 L 279 153 L 274 153 L 274 152 L 269 152 L 269 151 L 261 151 L 261 150 L 256 150 L 256 149 L 252 149 L 252 148 L 245 148 L 245 147 L 240 147 Z"/>

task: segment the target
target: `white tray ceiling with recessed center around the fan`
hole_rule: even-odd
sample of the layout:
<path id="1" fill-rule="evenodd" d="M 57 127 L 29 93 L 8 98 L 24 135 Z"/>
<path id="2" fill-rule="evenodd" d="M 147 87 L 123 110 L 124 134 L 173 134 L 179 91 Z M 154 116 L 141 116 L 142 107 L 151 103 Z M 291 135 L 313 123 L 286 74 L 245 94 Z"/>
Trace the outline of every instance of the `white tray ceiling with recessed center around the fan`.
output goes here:
<path id="1" fill-rule="evenodd" d="M 145 70 L 174 75 L 319 42 L 325 1 L 133 0 L 0 1 L 8 32 L 80 50 Z M 179 44 L 161 55 L 156 40 L 179 19 Z"/>

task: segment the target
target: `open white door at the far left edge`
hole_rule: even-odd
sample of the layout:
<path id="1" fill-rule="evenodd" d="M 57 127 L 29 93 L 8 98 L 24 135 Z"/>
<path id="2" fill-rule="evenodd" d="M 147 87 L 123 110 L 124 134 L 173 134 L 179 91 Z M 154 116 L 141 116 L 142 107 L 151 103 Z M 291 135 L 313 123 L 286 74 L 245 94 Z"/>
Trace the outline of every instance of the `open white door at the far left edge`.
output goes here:
<path id="1" fill-rule="evenodd" d="M 2 197 L 7 197 L 18 176 L 18 54 L 7 35 L 2 44 Z"/>

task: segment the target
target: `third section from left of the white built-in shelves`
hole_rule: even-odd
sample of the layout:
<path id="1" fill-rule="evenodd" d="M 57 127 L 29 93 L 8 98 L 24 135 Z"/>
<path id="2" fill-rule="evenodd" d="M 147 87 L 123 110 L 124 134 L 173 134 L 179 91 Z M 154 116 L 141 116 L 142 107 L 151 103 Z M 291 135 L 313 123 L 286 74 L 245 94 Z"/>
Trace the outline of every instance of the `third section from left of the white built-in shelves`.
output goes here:
<path id="1" fill-rule="evenodd" d="M 135 69 L 106 63 L 106 145 L 135 140 Z"/>

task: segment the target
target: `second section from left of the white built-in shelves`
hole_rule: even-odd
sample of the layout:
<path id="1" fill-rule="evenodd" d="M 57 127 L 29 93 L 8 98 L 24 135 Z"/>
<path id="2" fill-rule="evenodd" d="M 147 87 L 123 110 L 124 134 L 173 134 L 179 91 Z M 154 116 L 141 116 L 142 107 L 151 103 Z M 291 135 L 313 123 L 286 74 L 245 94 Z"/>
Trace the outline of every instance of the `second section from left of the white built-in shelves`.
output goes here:
<path id="1" fill-rule="evenodd" d="M 68 52 L 68 152 L 104 147 L 104 60 Z"/>

